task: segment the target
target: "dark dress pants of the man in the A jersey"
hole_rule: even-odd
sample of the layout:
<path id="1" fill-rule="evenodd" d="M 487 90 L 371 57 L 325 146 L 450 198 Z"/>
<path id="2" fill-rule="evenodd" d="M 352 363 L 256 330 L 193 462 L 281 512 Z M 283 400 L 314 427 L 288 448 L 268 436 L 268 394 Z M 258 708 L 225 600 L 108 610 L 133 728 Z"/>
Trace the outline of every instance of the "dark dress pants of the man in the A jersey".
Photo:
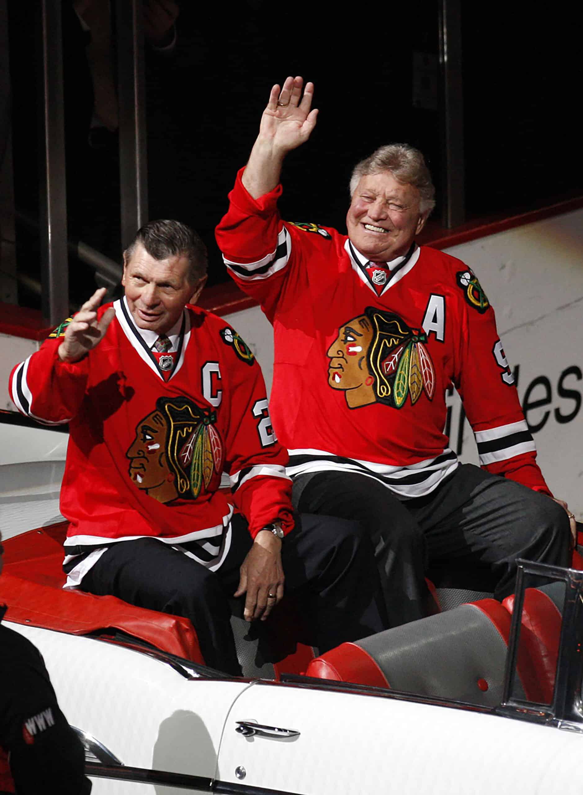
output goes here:
<path id="1" fill-rule="evenodd" d="M 546 494 L 460 464 L 426 497 L 400 501 L 382 483 L 337 471 L 299 475 L 294 505 L 368 529 L 391 626 L 427 615 L 427 572 L 454 569 L 454 587 L 514 590 L 521 557 L 569 565 L 569 518 Z"/>

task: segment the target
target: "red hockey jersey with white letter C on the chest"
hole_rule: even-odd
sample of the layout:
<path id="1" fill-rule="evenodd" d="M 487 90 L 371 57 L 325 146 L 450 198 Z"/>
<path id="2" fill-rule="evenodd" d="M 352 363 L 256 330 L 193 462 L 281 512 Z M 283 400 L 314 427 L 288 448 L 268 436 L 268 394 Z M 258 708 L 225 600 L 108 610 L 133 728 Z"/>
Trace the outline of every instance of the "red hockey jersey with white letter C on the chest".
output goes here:
<path id="1" fill-rule="evenodd" d="M 82 360 L 60 362 L 65 323 L 10 375 L 21 412 L 69 423 L 66 553 L 152 536 L 214 569 L 230 546 L 234 508 L 253 537 L 276 518 L 292 529 L 288 455 L 249 347 L 224 320 L 188 306 L 169 332 L 174 355 L 160 366 L 156 333 L 137 328 L 125 299 L 113 305 L 106 335 Z M 218 491 L 222 471 L 232 497 Z"/>

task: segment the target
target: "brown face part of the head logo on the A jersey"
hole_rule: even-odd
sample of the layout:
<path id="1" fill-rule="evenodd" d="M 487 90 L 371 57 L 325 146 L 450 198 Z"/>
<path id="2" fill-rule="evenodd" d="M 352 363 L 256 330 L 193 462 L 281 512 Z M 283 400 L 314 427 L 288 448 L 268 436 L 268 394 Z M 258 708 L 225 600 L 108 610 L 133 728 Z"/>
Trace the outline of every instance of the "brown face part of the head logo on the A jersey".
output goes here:
<path id="1" fill-rule="evenodd" d="M 338 337 L 328 348 L 328 384 L 334 390 L 346 391 L 346 401 L 351 408 L 375 400 L 366 364 L 366 352 L 373 341 L 373 328 L 365 315 L 353 318 L 341 326 Z"/>

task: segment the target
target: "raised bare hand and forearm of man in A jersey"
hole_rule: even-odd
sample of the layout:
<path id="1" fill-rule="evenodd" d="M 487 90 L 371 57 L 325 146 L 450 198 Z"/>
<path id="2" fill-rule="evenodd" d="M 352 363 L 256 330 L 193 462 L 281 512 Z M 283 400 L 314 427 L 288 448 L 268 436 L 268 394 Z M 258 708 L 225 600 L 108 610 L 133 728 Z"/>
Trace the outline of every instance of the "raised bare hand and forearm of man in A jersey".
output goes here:
<path id="1" fill-rule="evenodd" d="M 316 126 L 318 111 L 311 109 L 314 83 L 302 88 L 301 77 L 288 77 L 283 87 L 272 87 L 243 174 L 243 184 L 254 199 L 276 187 L 284 157 L 306 142 Z"/>

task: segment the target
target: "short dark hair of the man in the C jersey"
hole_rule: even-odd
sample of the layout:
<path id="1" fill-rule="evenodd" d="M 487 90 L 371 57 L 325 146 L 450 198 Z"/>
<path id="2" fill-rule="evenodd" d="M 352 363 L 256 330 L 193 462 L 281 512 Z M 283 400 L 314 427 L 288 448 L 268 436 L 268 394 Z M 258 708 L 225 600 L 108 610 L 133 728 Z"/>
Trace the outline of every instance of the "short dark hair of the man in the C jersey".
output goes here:
<path id="1" fill-rule="evenodd" d="M 188 281 L 195 284 L 207 273 L 207 246 L 200 236 L 180 221 L 150 221 L 138 229 L 135 238 L 125 249 L 124 261 L 129 262 L 137 244 L 141 243 L 154 259 L 187 257 L 190 264 Z"/>

